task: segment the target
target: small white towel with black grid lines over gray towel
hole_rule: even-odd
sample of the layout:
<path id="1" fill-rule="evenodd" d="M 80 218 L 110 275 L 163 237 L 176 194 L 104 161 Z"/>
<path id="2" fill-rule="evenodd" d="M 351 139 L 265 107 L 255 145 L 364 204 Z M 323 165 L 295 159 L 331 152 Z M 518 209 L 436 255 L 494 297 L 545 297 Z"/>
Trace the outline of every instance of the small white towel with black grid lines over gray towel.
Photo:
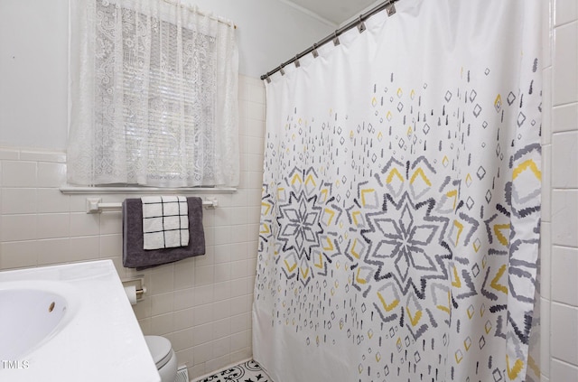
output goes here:
<path id="1" fill-rule="evenodd" d="M 143 203 L 143 248 L 186 247 L 189 216 L 184 196 L 147 196 Z"/>

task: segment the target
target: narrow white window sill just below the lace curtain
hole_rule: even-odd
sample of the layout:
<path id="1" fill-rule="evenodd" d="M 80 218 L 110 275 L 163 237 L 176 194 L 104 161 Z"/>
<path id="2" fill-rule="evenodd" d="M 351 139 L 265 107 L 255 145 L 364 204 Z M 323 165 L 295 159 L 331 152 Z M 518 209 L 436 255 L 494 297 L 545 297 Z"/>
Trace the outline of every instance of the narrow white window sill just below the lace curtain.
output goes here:
<path id="1" fill-rule="evenodd" d="M 68 195 L 91 195 L 91 194 L 173 194 L 173 193 L 232 193 L 235 187 L 76 187 L 62 186 L 61 192 Z"/>

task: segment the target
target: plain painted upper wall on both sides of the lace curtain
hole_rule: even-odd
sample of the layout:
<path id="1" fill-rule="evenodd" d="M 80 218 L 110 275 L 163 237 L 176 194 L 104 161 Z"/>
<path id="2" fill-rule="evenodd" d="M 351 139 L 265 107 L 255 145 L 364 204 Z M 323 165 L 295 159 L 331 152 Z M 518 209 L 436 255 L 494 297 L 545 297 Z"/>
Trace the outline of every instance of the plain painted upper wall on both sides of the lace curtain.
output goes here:
<path id="1" fill-rule="evenodd" d="M 276 0 L 187 0 L 238 25 L 239 72 L 258 78 L 334 25 Z M 0 1 L 0 146 L 64 149 L 68 0 Z"/>

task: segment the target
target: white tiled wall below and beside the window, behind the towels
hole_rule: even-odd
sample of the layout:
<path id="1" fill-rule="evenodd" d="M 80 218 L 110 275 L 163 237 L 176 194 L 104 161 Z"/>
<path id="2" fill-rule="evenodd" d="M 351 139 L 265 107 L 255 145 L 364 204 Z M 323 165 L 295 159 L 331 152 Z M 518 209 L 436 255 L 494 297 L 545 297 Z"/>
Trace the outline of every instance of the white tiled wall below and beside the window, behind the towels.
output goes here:
<path id="1" fill-rule="evenodd" d="M 86 195 L 63 195 L 66 156 L 0 148 L 0 269 L 111 258 L 121 278 L 144 275 L 134 307 L 144 334 L 172 341 L 191 378 L 248 359 L 261 207 L 265 88 L 239 77 L 241 184 L 204 210 L 207 254 L 136 272 L 122 266 L 121 214 L 85 213 Z M 125 195 L 101 195 L 106 202 Z"/>

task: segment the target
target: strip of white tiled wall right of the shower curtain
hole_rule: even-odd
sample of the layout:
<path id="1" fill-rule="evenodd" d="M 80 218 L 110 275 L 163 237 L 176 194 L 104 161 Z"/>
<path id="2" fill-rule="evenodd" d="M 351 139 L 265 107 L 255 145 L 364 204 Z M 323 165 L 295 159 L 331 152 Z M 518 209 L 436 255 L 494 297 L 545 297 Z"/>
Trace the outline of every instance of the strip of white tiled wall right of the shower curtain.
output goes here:
<path id="1" fill-rule="evenodd" d="M 578 1 L 544 3 L 540 368 L 566 382 L 578 380 Z"/>

